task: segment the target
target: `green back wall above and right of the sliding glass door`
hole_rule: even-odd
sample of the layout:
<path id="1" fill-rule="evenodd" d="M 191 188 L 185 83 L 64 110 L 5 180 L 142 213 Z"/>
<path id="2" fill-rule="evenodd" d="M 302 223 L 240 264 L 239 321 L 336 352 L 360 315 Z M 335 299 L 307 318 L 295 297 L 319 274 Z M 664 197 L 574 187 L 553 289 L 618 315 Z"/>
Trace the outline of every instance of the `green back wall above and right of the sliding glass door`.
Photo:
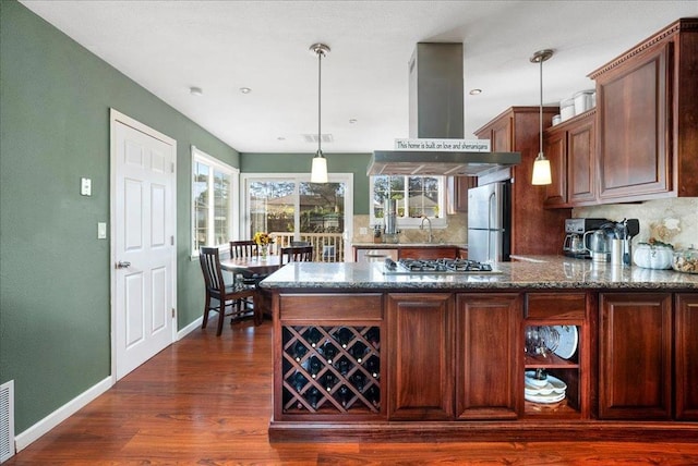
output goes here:
<path id="1" fill-rule="evenodd" d="M 353 173 L 353 213 L 369 213 L 370 154 L 325 154 L 330 173 Z M 240 154 L 243 173 L 310 173 L 312 154 Z"/>

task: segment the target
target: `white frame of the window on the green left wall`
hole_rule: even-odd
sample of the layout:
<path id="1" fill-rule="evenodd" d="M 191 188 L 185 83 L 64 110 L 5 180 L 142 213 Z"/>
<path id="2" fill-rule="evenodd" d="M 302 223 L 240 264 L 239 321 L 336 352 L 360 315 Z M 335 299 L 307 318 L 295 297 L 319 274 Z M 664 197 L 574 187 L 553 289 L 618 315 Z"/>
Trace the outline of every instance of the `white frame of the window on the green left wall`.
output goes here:
<path id="1" fill-rule="evenodd" d="M 228 163 L 216 159 L 215 157 L 204 152 L 203 150 L 198 149 L 196 146 L 192 145 L 191 146 L 191 172 L 190 172 L 190 185 L 189 185 L 190 186 L 189 200 L 191 204 L 190 248 L 191 248 L 192 258 L 198 257 L 198 249 L 196 248 L 196 199 L 195 199 L 195 192 L 194 192 L 194 173 L 196 171 L 196 163 L 205 164 L 210 169 L 207 183 L 208 183 L 208 189 L 212 193 L 214 192 L 213 183 L 214 183 L 215 172 L 228 175 L 230 180 L 230 192 L 229 192 L 230 203 L 229 203 L 227 221 L 228 221 L 228 232 L 231 237 L 225 243 L 216 244 L 214 246 L 221 252 L 227 252 L 229 247 L 229 241 L 233 240 L 237 236 L 239 231 L 238 212 L 239 212 L 239 205 L 240 205 L 240 201 L 239 201 L 240 169 L 231 167 Z M 215 209 L 214 201 L 215 201 L 215 196 L 209 196 L 208 206 L 207 206 L 207 214 L 209 216 L 209 219 L 210 217 L 214 216 L 214 209 Z M 215 221 L 210 222 L 210 224 L 215 225 Z M 215 229 L 210 229 L 210 231 L 206 233 L 206 237 L 207 237 L 206 244 L 209 244 L 209 241 L 213 237 L 215 237 Z"/>

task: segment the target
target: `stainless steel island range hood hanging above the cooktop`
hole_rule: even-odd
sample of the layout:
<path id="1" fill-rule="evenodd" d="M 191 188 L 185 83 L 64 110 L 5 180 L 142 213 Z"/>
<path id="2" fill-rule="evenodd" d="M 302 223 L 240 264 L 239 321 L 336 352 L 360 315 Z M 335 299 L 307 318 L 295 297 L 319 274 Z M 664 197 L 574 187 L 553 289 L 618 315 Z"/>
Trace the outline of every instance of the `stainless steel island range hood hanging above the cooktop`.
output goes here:
<path id="1" fill-rule="evenodd" d="M 462 44 L 417 45 L 409 63 L 410 138 L 464 138 L 462 75 Z M 366 174 L 481 176 L 520 161 L 519 152 L 376 150 Z"/>

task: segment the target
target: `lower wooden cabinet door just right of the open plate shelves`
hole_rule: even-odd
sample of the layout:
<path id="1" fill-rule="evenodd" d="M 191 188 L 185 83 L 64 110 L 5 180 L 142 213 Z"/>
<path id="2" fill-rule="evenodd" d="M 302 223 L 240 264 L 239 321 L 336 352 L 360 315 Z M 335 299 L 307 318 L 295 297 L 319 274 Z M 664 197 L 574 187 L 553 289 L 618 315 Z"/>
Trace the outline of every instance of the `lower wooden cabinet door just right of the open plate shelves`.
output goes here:
<path id="1" fill-rule="evenodd" d="M 601 295 L 600 418 L 671 417 L 671 297 L 669 293 Z"/>

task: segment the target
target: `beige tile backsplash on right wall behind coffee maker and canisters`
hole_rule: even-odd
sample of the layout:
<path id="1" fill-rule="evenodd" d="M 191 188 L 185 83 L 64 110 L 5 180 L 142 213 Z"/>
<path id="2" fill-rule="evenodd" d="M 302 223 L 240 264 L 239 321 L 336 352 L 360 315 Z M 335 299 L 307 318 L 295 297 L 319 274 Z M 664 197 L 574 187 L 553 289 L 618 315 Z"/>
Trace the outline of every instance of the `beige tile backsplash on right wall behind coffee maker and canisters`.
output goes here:
<path id="1" fill-rule="evenodd" d="M 612 204 L 573 209 L 573 217 L 606 218 L 621 221 L 638 219 L 640 233 L 635 240 L 646 242 L 651 236 L 671 243 L 676 248 L 698 247 L 698 197 L 648 200 L 639 204 Z"/>

